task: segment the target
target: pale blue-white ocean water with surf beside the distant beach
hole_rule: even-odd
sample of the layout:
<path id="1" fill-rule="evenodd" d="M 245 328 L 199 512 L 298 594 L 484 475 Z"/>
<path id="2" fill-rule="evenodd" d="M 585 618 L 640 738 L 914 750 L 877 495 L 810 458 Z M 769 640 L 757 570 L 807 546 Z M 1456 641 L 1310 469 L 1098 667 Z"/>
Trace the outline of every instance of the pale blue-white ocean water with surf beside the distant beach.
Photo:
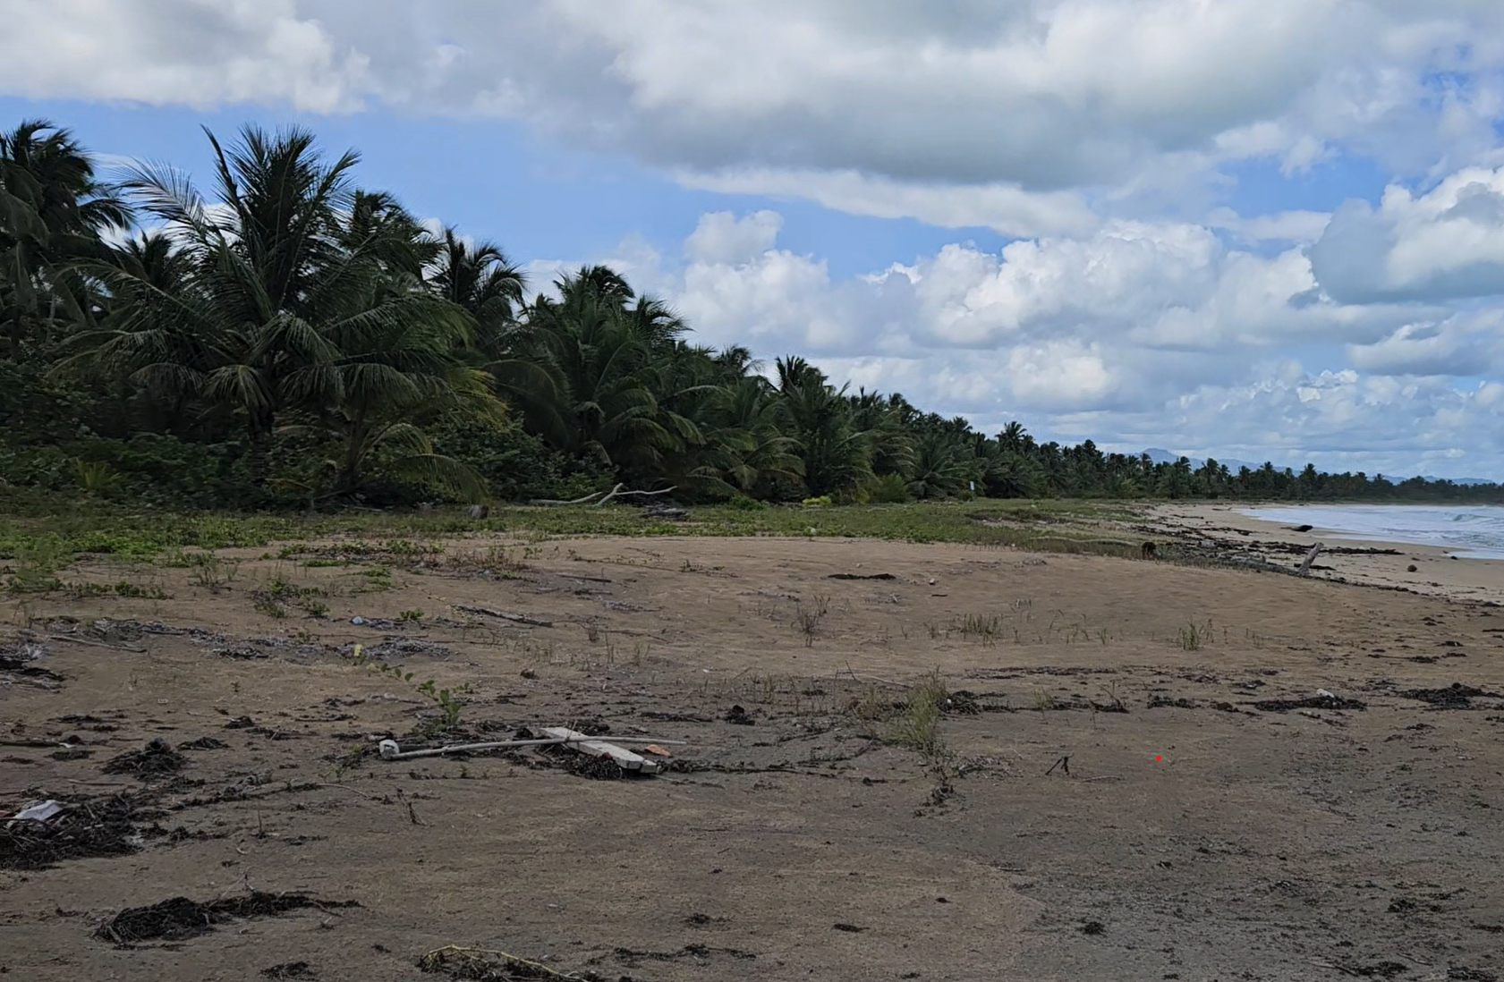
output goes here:
<path id="1" fill-rule="evenodd" d="M 1313 525 L 1345 538 L 1439 546 L 1466 559 L 1504 559 L 1499 505 L 1278 505 L 1245 508 L 1244 514 L 1281 525 Z"/>

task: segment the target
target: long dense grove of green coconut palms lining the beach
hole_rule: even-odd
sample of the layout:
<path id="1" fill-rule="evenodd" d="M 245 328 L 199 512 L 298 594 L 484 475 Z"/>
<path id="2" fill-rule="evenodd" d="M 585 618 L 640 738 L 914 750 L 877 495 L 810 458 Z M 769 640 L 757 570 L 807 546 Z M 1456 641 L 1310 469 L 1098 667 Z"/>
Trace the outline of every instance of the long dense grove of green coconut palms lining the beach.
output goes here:
<path id="1" fill-rule="evenodd" d="M 214 140 L 214 137 L 211 137 Z M 105 182 L 47 122 L 0 134 L 0 478 L 197 507 L 573 498 L 1474 498 L 1498 487 L 1154 463 L 985 436 L 902 396 L 711 350 L 605 266 L 532 292 L 310 134 L 214 141 L 211 194 Z"/>

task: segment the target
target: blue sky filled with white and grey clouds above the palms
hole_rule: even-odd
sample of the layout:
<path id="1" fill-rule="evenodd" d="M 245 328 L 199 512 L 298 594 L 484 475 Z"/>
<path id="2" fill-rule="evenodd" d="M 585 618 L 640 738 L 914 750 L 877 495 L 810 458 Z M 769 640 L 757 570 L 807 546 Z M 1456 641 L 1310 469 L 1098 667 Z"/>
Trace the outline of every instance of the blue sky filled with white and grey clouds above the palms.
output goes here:
<path id="1" fill-rule="evenodd" d="M 0 0 L 0 125 L 301 122 L 988 430 L 1504 478 L 1498 0 Z"/>

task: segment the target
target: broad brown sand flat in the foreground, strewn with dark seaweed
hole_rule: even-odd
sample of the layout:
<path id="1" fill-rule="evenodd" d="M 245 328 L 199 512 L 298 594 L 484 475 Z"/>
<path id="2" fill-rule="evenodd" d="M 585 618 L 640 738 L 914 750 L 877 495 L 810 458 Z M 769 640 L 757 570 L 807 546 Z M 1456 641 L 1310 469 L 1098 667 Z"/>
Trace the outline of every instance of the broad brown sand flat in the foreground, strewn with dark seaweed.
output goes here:
<path id="1" fill-rule="evenodd" d="M 1281 562 L 1310 541 L 1215 505 L 1151 523 Z M 33 596 L 0 626 L 0 809 L 125 793 L 143 836 L 0 862 L 5 977 L 436 980 L 415 965 L 445 944 L 654 982 L 1504 974 L 1504 611 L 960 544 L 403 544 L 232 550 L 214 583 L 92 558 L 62 579 L 146 596 Z M 1426 550 L 1363 561 L 1490 588 Z M 454 738 L 686 743 L 641 780 L 379 759 L 439 719 L 435 687 Z M 150 738 L 179 770 L 113 773 Z M 92 934 L 248 889 L 325 904 Z"/>

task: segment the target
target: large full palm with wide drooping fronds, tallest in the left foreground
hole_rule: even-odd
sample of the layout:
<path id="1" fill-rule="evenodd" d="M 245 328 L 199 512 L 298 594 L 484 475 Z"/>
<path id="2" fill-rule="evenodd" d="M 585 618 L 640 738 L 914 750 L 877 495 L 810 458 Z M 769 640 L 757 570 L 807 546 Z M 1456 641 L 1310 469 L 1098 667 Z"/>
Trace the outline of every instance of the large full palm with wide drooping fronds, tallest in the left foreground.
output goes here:
<path id="1" fill-rule="evenodd" d="M 209 140 L 212 208 L 176 171 L 131 174 L 126 188 L 171 247 L 143 242 L 138 257 L 101 268 L 123 302 L 80 347 L 98 365 L 233 411 L 257 487 L 286 418 L 332 426 L 350 448 L 338 469 L 347 490 L 359 460 L 394 439 L 373 436 L 388 432 L 371 429 L 381 399 L 384 412 L 408 414 L 445 385 L 474 388 L 441 364 L 468 341 L 469 316 L 421 284 L 436 244 L 390 195 L 353 188 L 353 152 L 325 162 L 298 128 L 274 137 L 247 126 L 229 149 Z M 147 256 L 153 263 L 137 262 Z M 436 338 L 450 346 L 442 356 Z"/>

